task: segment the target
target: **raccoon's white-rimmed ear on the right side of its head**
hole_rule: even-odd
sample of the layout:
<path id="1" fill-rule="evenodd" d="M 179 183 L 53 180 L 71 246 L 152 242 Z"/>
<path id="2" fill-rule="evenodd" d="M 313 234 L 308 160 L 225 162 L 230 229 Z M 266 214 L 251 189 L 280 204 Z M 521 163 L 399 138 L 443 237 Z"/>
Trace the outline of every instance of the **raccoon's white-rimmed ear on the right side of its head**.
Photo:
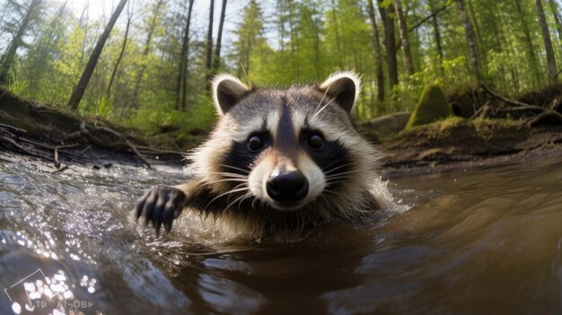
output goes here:
<path id="1" fill-rule="evenodd" d="M 350 112 L 361 92 L 361 78 L 354 72 L 341 71 L 330 74 L 328 79 L 317 88 L 320 92 L 334 98 L 339 106 Z"/>

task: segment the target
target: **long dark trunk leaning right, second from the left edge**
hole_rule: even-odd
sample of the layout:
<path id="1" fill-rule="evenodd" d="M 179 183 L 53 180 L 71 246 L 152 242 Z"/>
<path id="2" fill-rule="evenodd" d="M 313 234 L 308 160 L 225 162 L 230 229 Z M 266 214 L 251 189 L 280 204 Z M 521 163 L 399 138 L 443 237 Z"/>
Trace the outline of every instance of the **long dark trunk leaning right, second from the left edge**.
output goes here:
<path id="1" fill-rule="evenodd" d="M 113 29 L 113 25 L 115 25 L 115 22 L 117 21 L 117 18 L 119 18 L 119 14 L 121 14 L 121 11 L 123 11 L 126 3 L 127 0 L 121 0 L 119 2 L 117 8 L 115 9 L 115 12 L 111 14 L 110 22 L 108 22 L 108 25 L 105 27 L 105 30 L 101 34 L 100 39 L 98 39 L 98 43 L 92 50 L 92 55 L 90 55 L 90 59 L 88 59 L 88 63 L 83 69 L 80 81 L 78 81 L 78 84 L 75 87 L 75 91 L 72 92 L 70 101 L 68 101 L 68 105 L 73 110 L 76 110 L 78 108 L 78 104 L 80 104 L 80 101 L 82 101 L 83 92 L 86 91 L 86 87 L 90 82 L 90 78 L 93 74 L 93 69 L 95 68 L 96 64 L 98 63 L 98 59 L 100 58 L 101 50 L 103 49 L 106 40 L 110 37 L 110 32 Z"/>

